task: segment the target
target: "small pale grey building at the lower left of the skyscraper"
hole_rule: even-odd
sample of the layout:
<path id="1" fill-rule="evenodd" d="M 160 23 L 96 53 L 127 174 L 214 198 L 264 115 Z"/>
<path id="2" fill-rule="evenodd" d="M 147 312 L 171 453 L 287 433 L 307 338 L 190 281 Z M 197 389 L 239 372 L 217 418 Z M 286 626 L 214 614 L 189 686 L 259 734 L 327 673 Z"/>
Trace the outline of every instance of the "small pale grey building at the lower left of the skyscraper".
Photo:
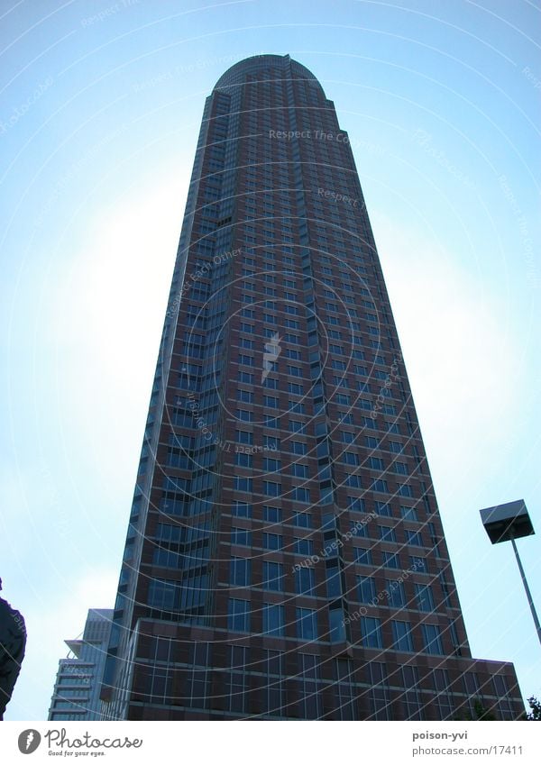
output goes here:
<path id="1" fill-rule="evenodd" d="M 111 632 L 113 610 L 90 608 L 83 637 L 67 640 L 60 659 L 48 720 L 99 720 L 99 688 Z"/>

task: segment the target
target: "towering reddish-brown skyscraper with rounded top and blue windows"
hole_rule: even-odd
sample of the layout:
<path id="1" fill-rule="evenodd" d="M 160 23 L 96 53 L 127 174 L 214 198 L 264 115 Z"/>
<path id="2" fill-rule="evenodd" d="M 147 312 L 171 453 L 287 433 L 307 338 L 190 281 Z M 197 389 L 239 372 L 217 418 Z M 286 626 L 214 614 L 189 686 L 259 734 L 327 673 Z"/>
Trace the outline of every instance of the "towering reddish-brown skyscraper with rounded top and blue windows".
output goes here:
<path id="1" fill-rule="evenodd" d="M 108 719 L 450 719 L 473 660 L 347 133 L 289 56 L 206 99 L 102 689 Z"/>

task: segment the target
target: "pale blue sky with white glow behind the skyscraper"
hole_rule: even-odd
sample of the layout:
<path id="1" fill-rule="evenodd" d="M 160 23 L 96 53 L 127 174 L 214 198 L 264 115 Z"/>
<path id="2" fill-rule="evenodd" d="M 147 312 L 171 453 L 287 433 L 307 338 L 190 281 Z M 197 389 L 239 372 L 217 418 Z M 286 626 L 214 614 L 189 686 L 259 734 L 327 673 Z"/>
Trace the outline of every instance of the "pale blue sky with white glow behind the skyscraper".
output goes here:
<path id="1" fill-rule="evenodd" d="M 541 697 L 538 0 L 2 0 L 0 576 L 28 626 L 7 719 L 111 607 L 204 99 L 289 53 L 350 134 L 479 658 Z"/>

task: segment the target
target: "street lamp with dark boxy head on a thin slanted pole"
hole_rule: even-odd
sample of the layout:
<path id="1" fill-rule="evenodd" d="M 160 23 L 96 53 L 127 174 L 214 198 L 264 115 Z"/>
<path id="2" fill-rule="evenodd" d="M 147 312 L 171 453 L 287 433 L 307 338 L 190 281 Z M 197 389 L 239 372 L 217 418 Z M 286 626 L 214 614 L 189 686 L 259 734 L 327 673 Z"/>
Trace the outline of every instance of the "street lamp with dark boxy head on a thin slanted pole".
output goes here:
<path id="1" fill-rule="evenodd" d="M 539 638 L 539 642 L 541 642 L 541 624 L 539 624 L 539 618 L 536 614 L 536 606 L 534 606 L 532 594 L 527 586 L 526 574 L 522 568 L 522 563 L 518 556 L 517 544 L 515 542 L 515 540 L 521 536 L 531 536 L 531 534 L 535 534 L 524 500 L 517 499 L 515 502 L 506 502 L 505 505 L 485 507 L 484 510 L 481 510 L 481 522 L 485 527 L 485 531 L 488 533 L 492 544 L 511 541 L 513 550 L 515 551 L 515 557 L 517 558 L 522 584 L 526 590 L 527 602 L 529 603 L 530 611 L 534 617 L 534 624 L 536 624 L 537 637 Z"/>

